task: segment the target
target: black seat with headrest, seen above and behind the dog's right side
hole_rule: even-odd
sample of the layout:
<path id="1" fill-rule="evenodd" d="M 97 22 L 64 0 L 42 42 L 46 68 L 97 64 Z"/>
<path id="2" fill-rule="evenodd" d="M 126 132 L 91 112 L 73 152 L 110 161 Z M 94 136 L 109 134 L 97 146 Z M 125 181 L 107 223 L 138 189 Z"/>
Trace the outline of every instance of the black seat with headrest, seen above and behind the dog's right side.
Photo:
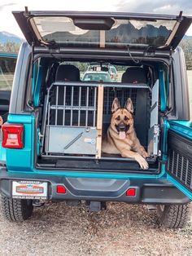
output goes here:
<path id="1" fill-rule="evenodd" d="M 134 104 L 134 126 L 137 137 L 144 147 L 147 147 L 147 136 L 150 125 L 150 92 L 139 88 L 139 84 L 147 84 L 146 70 L 141 67 L 130 67 L 123 73 L 121 82 L 138 84 L 135 90 L 136 104 Z"/>

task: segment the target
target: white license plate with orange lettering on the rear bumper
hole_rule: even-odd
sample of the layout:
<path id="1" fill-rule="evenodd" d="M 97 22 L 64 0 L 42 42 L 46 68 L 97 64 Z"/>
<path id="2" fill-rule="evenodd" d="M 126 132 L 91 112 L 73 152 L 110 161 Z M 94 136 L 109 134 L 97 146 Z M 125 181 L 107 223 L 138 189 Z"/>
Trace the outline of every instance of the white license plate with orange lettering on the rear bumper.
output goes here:
<path id="1" fill-rule="evenodd" d="M 13 181 L 12 197 L 19 199 L 47 199 L 47 183 L 40 181 Z"/>

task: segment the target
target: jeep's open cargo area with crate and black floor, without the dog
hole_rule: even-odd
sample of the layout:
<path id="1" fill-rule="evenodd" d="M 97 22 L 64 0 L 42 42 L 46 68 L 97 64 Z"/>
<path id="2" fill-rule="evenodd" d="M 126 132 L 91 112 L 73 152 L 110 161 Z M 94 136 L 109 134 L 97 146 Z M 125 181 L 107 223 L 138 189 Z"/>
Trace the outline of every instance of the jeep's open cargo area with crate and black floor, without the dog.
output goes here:
<path id="1" fill-rule="evenodd" d="M 139 72 L 144 70 L 134 68 Z M 146 159 L 149 169 L 142 171 L 158 172 L 159 79 L 134 83 L 124 78 L 124 73 L 120 82 L 62 81 L 55 77 L 41 98 L 43 111 L 37 125 L 41 135 L 37 168 L 141 172 L 132 158 L 102 151 L 113 100 L 118 98 L 124 108 L 130 98 L 137 138 L 149 154 Z"/>

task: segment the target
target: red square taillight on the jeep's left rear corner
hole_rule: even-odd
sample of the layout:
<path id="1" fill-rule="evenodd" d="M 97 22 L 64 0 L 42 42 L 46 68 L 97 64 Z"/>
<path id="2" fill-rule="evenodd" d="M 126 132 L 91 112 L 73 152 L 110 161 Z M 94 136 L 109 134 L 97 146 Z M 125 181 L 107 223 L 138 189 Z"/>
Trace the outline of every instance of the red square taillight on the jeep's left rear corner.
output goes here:
<path id="1" fill-rule="evenodd" d="M 2 147 L 24 148 L 23 133 L 23 125 L 5 123 L 2 125 Z"/>

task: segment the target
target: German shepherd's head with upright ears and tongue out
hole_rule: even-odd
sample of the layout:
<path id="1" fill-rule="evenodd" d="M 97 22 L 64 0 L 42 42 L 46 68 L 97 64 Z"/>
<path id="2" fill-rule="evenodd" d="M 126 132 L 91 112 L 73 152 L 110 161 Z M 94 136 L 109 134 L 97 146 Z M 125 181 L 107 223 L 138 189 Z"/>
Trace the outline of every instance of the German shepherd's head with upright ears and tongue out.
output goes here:
<path id="1" fill-rule="evenodd" d="M 111 108 L 111 126 L 116 129 L 120 139 L 125 139 L 126 134 L 133 131 L 133 104 L 132 100 L 127 99 L 124 108 L 120 108 L 119 99 L 115 98 Z"/>

